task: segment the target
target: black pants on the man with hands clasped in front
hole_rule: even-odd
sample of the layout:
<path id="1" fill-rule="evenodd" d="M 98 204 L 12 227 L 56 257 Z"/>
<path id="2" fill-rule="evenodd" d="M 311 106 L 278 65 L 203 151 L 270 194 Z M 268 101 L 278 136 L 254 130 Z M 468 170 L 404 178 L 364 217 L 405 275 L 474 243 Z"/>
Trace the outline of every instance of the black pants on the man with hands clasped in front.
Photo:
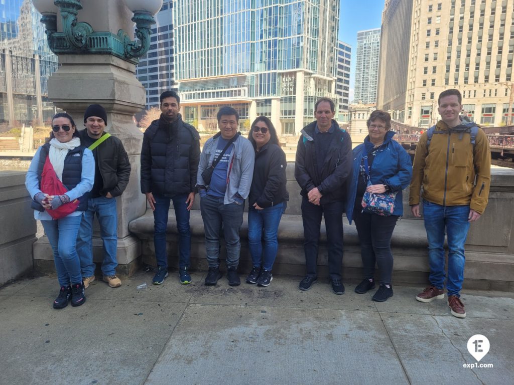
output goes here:
<path id="1" fill-rule="evenodd" d="M 303 249 L 307 276 L 316 277 L 318 243 L 320 238 L 321 217 L 325 218 L 328 240 L 328 272 L 331 279 L 341 279 L 343 266 L 343 208 L 344 203 L 337 201 L 317 206 L 302 197 Z"/>

